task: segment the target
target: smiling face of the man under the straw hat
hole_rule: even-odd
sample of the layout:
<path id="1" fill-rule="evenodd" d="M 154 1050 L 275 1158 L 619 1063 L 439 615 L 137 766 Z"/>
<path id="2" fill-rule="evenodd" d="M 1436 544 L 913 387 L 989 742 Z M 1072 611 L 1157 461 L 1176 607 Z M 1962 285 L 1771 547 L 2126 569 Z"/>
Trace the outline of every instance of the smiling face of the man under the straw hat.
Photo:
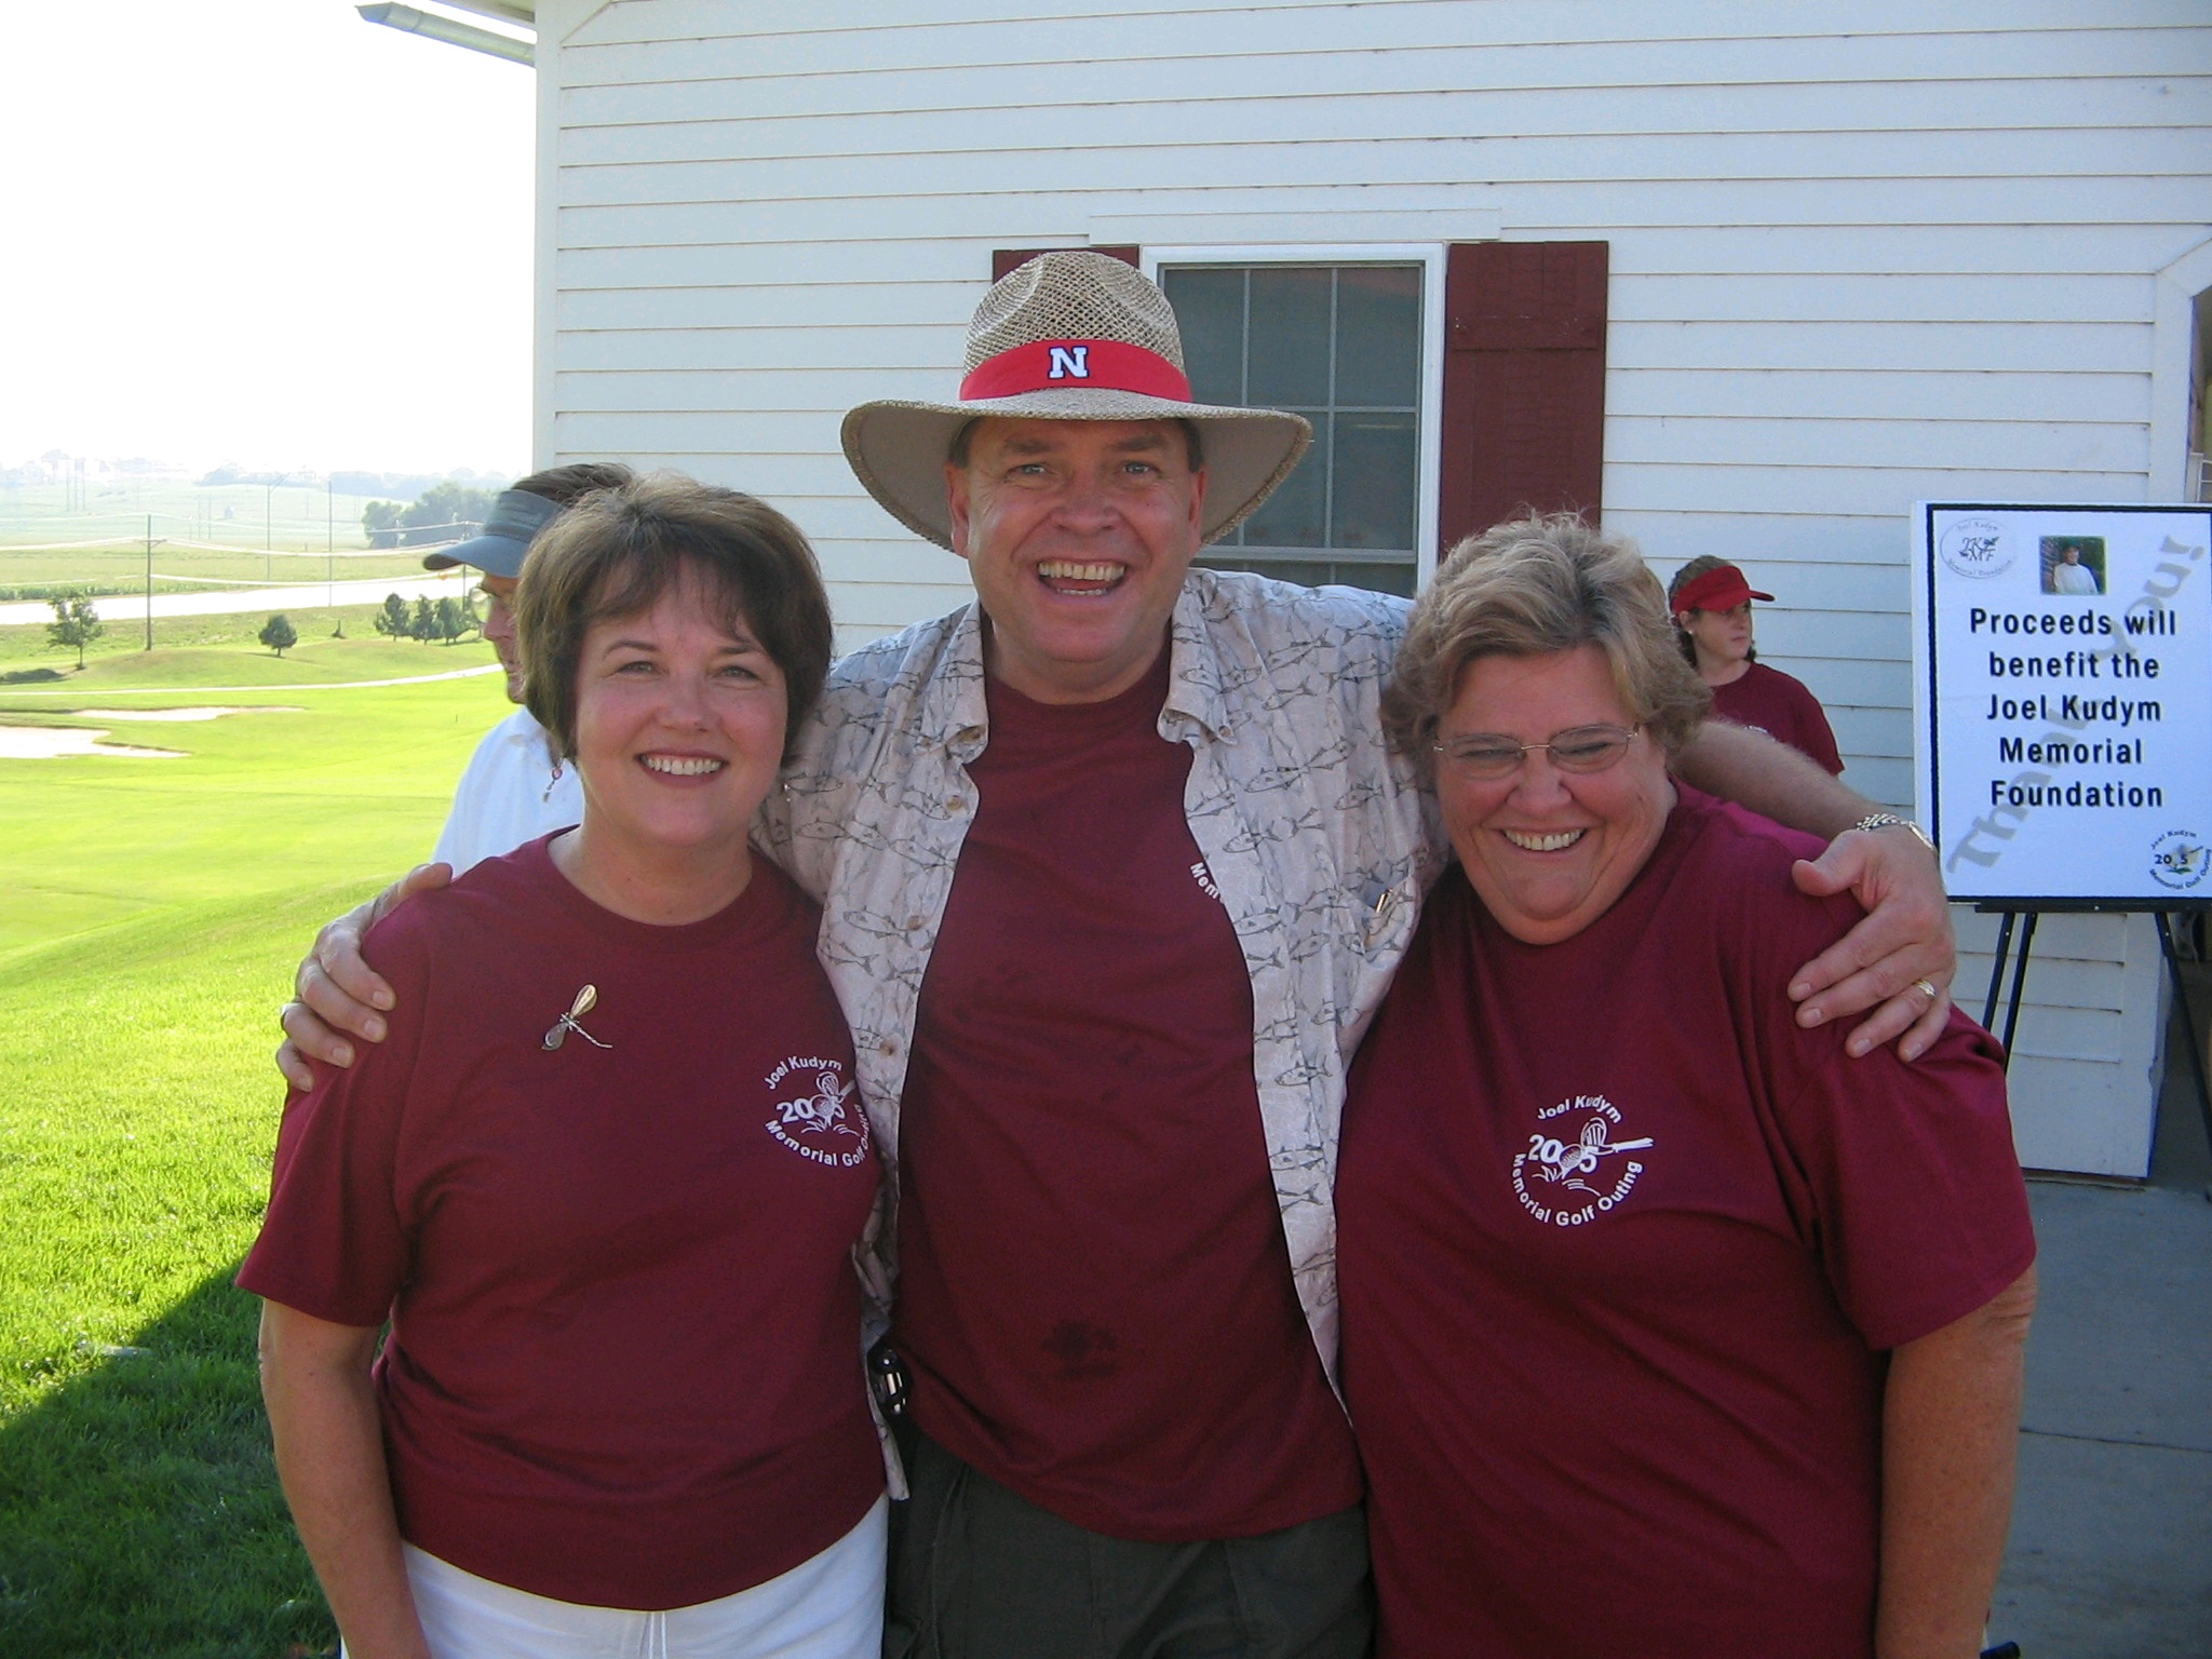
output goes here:
<path id="1" fill-rule="evenodd" d="M 1206 502 L 1172 420 L 982 420 L 945 489 L 995 679 L 1042 703 L 1095 703 L 1144 677 Z"/>

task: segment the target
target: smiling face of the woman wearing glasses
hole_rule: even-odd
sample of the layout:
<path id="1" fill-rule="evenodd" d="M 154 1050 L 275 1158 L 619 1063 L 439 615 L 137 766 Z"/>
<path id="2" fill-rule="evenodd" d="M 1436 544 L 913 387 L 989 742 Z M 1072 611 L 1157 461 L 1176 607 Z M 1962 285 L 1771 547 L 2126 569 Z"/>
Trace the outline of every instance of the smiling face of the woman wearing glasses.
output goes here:
<path id="1" fill-rule="evenodd" d="M 1460 672 L 1438 741 L 1548 743 L 1575 726 L 1635 726 L 1595 644 L 1544 657 L 1478 657 Z M 1557 945 L 1604 916 L 1644 869 L 1674 807 L 1666 757 L 1639 734 L 1604 772 L 1562 772 L 1546 750 L 1495 781 L 1438 763 L 1436 796 L 1460 869 L 1498 925 Z"/>

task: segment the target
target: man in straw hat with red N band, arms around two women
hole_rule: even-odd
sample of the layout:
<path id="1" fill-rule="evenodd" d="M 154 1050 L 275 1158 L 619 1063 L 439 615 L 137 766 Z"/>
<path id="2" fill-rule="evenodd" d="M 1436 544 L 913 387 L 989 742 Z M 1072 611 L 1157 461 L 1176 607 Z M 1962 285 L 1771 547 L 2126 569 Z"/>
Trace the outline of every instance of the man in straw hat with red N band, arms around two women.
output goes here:
<path id="1" fill-rule="evenodd" d="M 1166 296 L 1091 252 L 993 285 L 958 400 L 845 420 L 860 482 L 978 595 L 832 670 L 763 825 L 823 900 L 896 1157 L 872 1267 L 885 1296 L 898 1270 L 914 1495 L 887 1652 L 1367 1650 L 1332 1175 L 1433 869 L 1376 717 L 1405 604 L 1192 568 L 1307 436 L 1192 403 Z M 1869 810 L 1752 734 L 1699 759 L 1809 830 Z M 1880 1004 L 1854 1042 L 1918 1053 L 1947 1000 L 1907 982 L 1949 978 L 1949 929 L 1905 841 L 1832 852 L 1887 902 L 1801 978 L 1820 1018 Z M 301 991 L 369 1013 L 321 962 Z"/>

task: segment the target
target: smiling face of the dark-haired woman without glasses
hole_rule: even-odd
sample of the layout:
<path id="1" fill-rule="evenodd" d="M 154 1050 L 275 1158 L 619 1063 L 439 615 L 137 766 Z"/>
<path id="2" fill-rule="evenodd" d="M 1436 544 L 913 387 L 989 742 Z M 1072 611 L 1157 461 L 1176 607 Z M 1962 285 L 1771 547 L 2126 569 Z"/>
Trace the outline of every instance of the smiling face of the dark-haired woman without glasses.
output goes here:
<path id="1" fill-rule="evenodd" d="M 783 759 L 785 690 L 750 630 L 726 633 L 719 617 L 688 573 L 650 611 L 584 633 L 575 765 L 588 874 L 659 872 L 666 885 L 692 872 L 703 894 L 732 883 L 723 900 L 743 889 L 745 834 Z"/>

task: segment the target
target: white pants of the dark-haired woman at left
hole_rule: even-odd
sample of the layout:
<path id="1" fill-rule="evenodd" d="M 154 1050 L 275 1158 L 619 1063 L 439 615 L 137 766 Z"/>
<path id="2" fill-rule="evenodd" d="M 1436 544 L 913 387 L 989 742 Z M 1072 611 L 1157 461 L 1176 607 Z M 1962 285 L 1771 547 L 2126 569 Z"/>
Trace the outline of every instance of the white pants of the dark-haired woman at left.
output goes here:
<path id="1" fill-rule="evenodd" d="M 405 1544 L 436 1659 L 878 1659 L 889 1500 L 790 1573 L 668 1613 L 513 1590 Z"/>

